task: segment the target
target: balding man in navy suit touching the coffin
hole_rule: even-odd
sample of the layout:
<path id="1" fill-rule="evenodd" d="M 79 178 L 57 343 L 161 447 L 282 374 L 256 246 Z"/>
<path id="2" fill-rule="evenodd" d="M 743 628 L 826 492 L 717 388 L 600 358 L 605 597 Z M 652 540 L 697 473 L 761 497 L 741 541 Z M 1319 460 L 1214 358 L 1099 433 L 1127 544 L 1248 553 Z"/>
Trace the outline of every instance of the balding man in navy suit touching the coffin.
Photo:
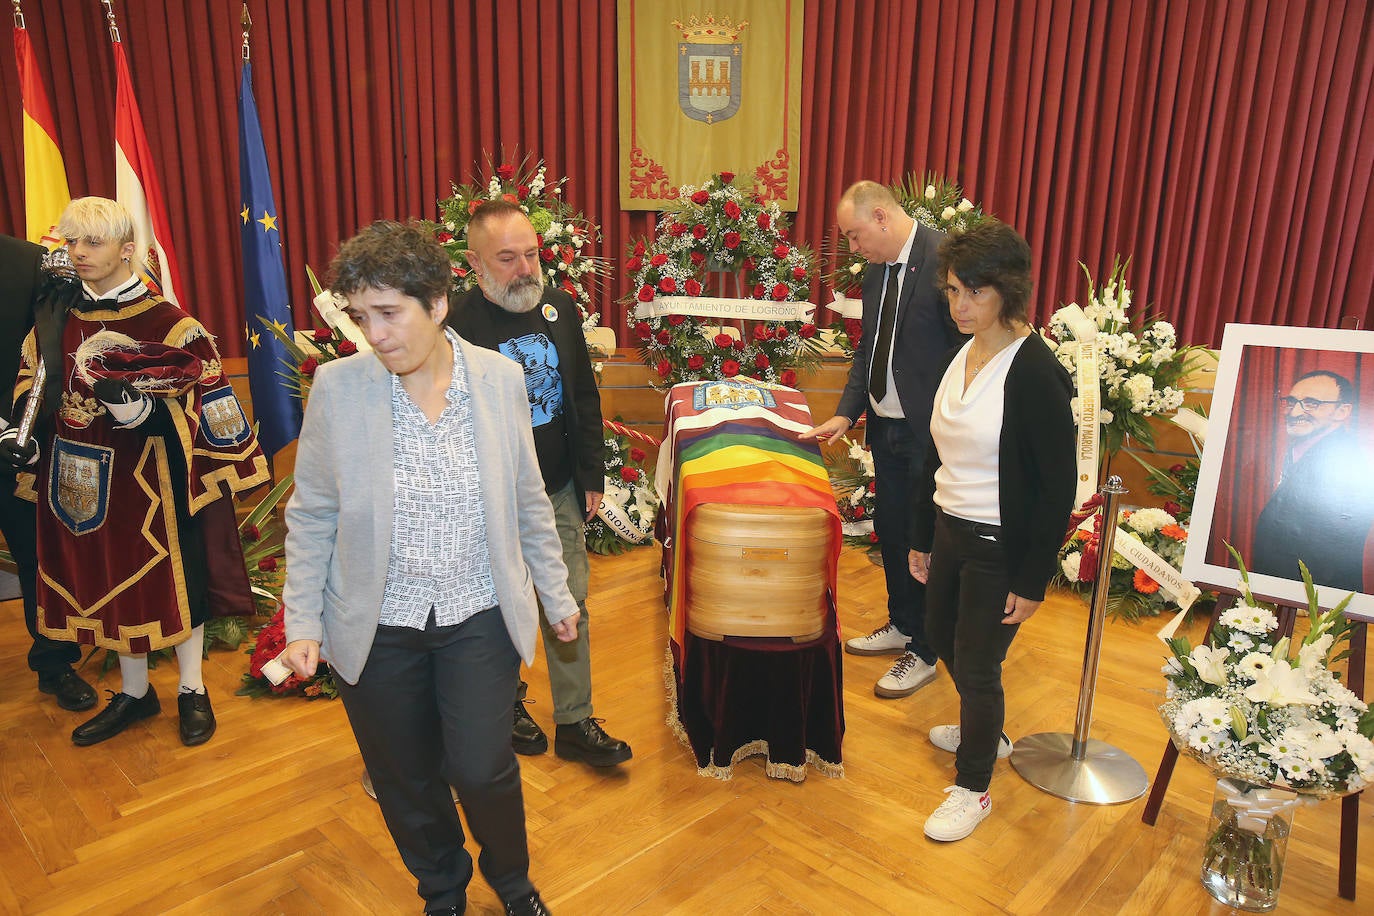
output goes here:
<path id="1" fill-rule="evenodd" d="M 863 280 L 863 338 L 835 415 L 804 434 L 831 442 L 868 415 L 877 507 L 874 529 L 888 581 L 888 622 L 845 643 L 853 655 L 897 655 L 874 692 L 910 696 L 936 676 L 926 643 L 925 586 L 907 570 L 911 493 L 930 444 L 930 409 L 943 356 L 962 338 L 936 288 L 941 232 L 919 225 L 877 181 L 859 181 L 840 198 L 840 232 L 868 261 Z"/>

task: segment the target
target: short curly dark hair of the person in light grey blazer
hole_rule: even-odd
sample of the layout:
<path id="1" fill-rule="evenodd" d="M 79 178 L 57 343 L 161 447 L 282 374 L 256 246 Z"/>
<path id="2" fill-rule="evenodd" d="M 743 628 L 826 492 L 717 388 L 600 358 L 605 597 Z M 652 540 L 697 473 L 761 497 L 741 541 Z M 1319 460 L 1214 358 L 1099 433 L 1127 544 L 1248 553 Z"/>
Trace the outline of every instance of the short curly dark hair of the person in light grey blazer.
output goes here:
<path id="1" fill-rule="evenodd" d="M 330 288 L 339 295 L 396 290 L 430 309 L 448 294 L 452 265 L 434 233 L 419 222 L 378 220 L 339 246 Z"/>

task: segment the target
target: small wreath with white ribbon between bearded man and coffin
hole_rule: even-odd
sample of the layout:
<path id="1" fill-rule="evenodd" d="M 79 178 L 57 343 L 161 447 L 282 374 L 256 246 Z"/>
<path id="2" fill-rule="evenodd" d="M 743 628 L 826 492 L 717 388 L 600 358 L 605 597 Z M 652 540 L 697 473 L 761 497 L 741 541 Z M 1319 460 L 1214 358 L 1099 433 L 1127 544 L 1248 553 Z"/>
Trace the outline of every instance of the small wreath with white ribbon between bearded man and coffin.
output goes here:
<path id="1" fill-rule="evenodd" d="M 649 457 L 632 439 L 658 445 L 655 439 L 621 423 L 602 420 L 606 428 L 606 492 L 603 505 L 587 523 L 587 549 L 594 553 L 624 553 L 654 542 L 658 496 L 654 477 L 644 466 Z"/>

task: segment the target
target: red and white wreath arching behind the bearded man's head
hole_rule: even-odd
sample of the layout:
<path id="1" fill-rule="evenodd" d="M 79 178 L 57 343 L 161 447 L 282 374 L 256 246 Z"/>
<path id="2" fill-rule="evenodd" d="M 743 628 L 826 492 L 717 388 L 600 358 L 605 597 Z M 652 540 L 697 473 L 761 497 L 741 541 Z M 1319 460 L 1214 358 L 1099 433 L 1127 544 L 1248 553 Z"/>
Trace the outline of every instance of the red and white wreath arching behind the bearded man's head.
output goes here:
<path id="1" fill-rule="evenodd" d="M 544 282 L 572 297 L 584 328 L 596 327 L 599 314 L 592 309 L 592 293 L 610 275 L 610 264 L 587 253 L 589 242 L 600 240 L 600 227 L 563 199 L 567 179 L 550 183 L 543 159 L 530 166 L 529 157 L 519 165 L 502 162 L 495 169 L 488 159 L 486 170 L 485 184 L 451 183 L 452 195 L 438 202 L 440 221 L 434 238 L 453 262 L 453 288 L 466 291 L 477 286 L 466 257 L 467 222 L 473 213 L 488 201 L 507 201 L 529 216 L 539 233 Z"/>

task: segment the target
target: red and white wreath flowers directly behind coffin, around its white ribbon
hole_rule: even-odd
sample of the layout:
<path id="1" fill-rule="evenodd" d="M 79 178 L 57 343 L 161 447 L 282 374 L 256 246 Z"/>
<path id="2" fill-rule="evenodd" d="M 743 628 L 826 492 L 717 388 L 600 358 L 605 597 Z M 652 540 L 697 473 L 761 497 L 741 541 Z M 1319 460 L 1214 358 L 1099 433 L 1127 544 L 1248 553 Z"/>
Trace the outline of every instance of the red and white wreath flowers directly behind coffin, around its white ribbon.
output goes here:
<path id="1" fill-rule="evenodd" d="M 635 243 L 625 269 L 633 275 L 636 302 L 703 295 L 712 283 L 725 295 L 719 290 L 723 280 L 712 275 L 734 275 L 735 298 L 787 302 L 811 295 L 811 250 L 791 243 L 776 202 L 764 203 L 731 184 L 734 179 L 721 172 L 699 188 L 683 185 L 655 238 Z M 735 376 L 794 387 L 797 371 L 819 361 L 811 321 L 741 323 L 739 338 L 724 330 L 706 336 L 702 327 L 714 323 L 688 314 L 639 319 L 631 331 L 664 387 Z"/>

